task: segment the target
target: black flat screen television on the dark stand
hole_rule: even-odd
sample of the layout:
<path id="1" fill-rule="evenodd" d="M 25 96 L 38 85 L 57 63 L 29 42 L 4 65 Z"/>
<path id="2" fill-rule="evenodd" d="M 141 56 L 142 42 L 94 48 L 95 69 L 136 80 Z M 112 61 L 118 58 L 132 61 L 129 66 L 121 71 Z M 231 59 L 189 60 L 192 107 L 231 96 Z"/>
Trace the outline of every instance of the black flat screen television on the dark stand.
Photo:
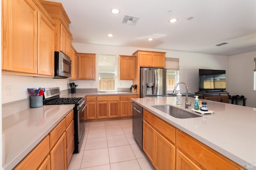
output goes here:
<path id="1" fill-rule="evenodd" d="M 199 91 L 216 92 L 226 90 L 226 70 L 199 69 Z"/>

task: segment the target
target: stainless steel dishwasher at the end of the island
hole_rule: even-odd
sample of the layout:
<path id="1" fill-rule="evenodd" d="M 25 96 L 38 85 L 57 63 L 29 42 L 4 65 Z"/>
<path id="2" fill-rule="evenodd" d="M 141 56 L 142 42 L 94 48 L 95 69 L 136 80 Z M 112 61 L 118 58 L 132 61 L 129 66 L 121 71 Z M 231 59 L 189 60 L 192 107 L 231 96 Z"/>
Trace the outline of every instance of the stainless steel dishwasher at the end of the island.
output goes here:
<path id="1" fill-rule="evenodd" d="M 132 102 L 132 134 L 142 149 L 143 109 Z"/>

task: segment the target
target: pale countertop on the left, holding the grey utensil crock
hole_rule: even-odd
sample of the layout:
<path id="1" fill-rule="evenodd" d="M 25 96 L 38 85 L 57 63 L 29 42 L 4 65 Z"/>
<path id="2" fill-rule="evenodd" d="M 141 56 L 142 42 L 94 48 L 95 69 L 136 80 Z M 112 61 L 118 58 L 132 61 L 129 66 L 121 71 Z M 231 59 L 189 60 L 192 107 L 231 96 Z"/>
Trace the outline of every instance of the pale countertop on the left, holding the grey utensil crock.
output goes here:
<path id="1" fill-rule="evenodd" d="M 44 105 L 2 118 L 4 170 L 14 168 L 73 108 Z"/>

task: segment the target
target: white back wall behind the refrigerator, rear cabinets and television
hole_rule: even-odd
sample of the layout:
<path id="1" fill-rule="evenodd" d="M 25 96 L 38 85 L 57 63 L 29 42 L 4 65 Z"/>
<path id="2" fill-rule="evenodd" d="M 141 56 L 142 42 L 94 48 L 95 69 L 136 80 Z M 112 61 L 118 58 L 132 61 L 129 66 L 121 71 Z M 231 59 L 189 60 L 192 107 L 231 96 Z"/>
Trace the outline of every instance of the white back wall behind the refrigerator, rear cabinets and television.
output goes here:
<path id="1" fill-rule="evenodd" d="M 124 46 L 112 46 L 112 45 L 96 45 L 96 44 L 84 44 L 84 43 L 72 43 L 73 47 L 78 53 L 98 53 L 98 54 L 113 54 L 113 55 L 132 55 L 137 50 L 146 51 L 161 51 L 166 52 L 166 57 L 174 57 L 180 59 L 180 81 L 185 82 L 188 85 L 188 91 L 194 93 L 198 91 L 198 69 L 223 69 L 228 73 L 228 57 L 220 55 L 208 55 L 199 53 L 188 53 L 180 51 L 170 50 L 158 50 L 158 49 L 144 49 L 136 47 L 124 47 Z M 92 88 L 97 87 L 96 81 L 77 80 L 76 84 L 78 88 Z M 132 81 L 118 81 L 118 88 L 130 88 Z M 185 88 L 182 86 L 181 92 L 185 92 Z"/>

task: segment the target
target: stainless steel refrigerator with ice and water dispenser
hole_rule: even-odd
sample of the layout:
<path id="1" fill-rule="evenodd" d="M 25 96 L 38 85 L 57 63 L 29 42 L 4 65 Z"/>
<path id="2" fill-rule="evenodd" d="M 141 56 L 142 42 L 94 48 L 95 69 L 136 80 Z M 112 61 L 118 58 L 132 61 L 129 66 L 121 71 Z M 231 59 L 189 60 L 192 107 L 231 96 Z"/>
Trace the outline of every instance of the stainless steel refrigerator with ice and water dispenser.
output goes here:
<path id="1" fill-rule="evenodd" d="M 166 96 L 166 69 L 140 68 L 140 98 Z"/>

